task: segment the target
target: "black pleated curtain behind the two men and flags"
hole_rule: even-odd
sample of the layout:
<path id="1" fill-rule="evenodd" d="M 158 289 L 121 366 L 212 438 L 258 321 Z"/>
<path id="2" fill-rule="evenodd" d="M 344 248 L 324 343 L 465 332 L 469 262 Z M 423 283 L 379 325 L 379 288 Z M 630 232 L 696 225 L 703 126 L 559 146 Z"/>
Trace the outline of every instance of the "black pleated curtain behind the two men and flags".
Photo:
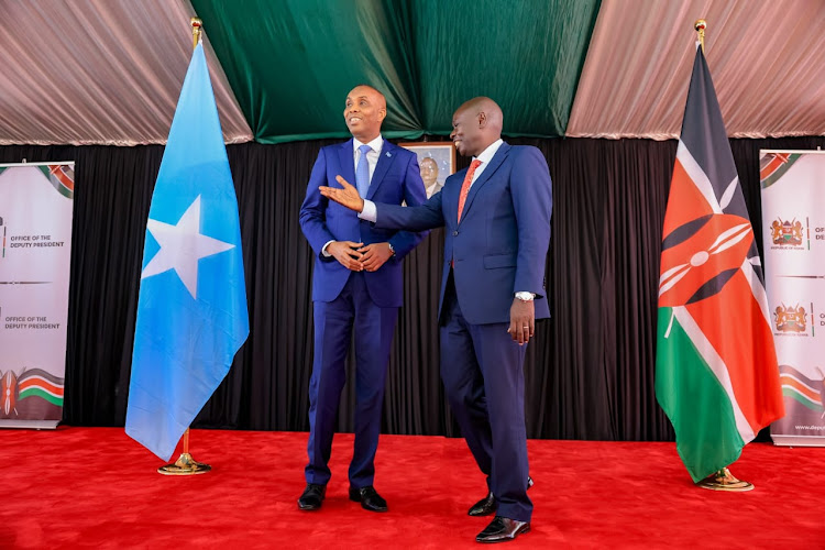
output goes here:
<path id="1" fill-rule="evenodd" d="M 509 140 L 539 147 L 553 179 L 547 279 L 552 319 L 527 352 L 531 438 L 671 440 L 656 403 L 659 245 L 674 141 Z M 307 430 L 312 252 L 298 209 L 320 146 L 228 147 L 238 190 L 251 333 L 195 427 Z M 811 150 L 825 138 L 730 140 L 761 250 L 759 150 Z M 1 146 L 0 163 L 75 161 L 64 422 L 122 426 L 145 223 L 163 147 Z M 459 167 L 468 164 L 460 158 Z M 0 208 L 2 205 L 0 205 Z M 457 436 L 439 378 L 436 326 L 443 233 L 405 260 L 405 306 L 383 428 Z M 352 363 L 352 358 L 351 358 Z M 352 381 L 352 369 L 350 381 Z M 352 428 L 354 388 L 339 429 Z"/>

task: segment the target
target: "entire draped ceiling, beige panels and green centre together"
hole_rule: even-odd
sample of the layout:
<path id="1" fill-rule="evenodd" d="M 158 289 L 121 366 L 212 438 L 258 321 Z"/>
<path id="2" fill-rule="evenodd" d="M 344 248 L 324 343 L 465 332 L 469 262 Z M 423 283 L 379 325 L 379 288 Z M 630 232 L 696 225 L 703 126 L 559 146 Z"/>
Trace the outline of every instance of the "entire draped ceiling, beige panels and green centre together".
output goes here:
<path id="1" fill-rule="evenodd" d="M 509 138 L 679 136 L 695 53 L 728 135 L 825 135 L 825 0 L 0 0 L 0 145 L 165 143 L 204 21 L 224 140 L 447 135 L 488 96 Z"/>

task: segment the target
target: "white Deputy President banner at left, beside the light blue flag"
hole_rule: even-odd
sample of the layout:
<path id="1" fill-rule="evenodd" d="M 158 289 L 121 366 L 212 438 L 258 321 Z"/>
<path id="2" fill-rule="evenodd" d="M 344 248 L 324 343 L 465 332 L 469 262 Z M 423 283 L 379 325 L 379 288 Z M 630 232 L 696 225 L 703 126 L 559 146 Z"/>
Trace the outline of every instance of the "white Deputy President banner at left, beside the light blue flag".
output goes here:
<path id="1" fill-rule="evenodd" d="M 0 165 L 0 427 L 63 416 L 74 167 Z"/>

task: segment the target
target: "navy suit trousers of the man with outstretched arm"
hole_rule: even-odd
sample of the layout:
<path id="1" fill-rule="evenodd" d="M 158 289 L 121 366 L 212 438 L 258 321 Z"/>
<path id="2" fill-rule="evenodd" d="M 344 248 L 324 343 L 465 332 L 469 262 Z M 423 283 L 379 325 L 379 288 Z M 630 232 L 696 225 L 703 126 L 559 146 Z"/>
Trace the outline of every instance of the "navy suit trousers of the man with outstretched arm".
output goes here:
<path id="1" fill-rule="evenodd" d="M 472 324 L 461 314 L 452 270 L 440 319 L 441 380 L 470 451 L 487 475 L 498 516 L 529 521 L 524 361 L 509 323 Z"/>

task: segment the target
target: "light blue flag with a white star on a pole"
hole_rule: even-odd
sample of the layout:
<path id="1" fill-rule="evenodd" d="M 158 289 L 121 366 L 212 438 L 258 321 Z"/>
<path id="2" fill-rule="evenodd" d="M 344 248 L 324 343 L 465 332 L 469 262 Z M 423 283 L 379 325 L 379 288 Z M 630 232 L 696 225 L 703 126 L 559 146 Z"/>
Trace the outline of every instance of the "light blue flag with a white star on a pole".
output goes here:
<path id="1" fill-rule="evenodd" d="M 238 199 L 198 44 L 146 222 L 127 433 L 169 460 L 249 332 Z"/>

